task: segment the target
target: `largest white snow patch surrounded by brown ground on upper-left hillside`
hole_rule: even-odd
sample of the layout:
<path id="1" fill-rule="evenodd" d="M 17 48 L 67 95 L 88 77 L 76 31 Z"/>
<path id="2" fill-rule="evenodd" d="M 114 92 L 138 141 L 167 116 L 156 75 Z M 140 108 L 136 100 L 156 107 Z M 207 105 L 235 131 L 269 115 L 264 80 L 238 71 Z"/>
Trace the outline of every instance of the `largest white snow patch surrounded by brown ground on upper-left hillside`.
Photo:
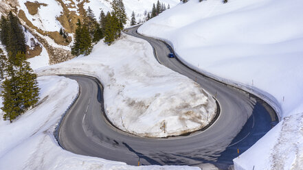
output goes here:
<path id="1" fill-rule="evenodd" d="M 60 30 L 62 25 L 56 19 L 56 17 L 60 16 L 61 12 L 63 12 L 60 3 L 55 0 L 39 0 L 39 3 L 45 3 L 47 6 L 41 5 L 38 8 L 38 13 L 32 16 L 24 4 L 27 1 L 35 2 L 36 0 L 19 0 L 19 5 L 29 21 L 43 31 L 58 32 Z"/>

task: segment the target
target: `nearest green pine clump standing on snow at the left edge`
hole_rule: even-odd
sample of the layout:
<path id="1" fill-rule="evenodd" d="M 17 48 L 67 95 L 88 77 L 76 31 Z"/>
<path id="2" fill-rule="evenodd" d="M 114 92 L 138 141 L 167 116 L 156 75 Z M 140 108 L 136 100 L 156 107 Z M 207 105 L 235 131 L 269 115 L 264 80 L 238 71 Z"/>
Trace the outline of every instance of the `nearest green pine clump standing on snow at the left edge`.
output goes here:
<path id="1" fill-rule="evenodd" d="M 12 53 L 9 53 L 9 58 L 15 58 L 19 62 L 8 60 L 5 69 L 8 77 L 2 84 L 3 92 L 1 94 L 3 97 L 1 110 L 5 112 L 3 119 L 10 120 L 10 122 L 38 102 L 39 91 L 37 76 L 30 68 L 30 63 L 25 60 L 25 54 L 18 52 L 14 57 L 11 55 Z"/>

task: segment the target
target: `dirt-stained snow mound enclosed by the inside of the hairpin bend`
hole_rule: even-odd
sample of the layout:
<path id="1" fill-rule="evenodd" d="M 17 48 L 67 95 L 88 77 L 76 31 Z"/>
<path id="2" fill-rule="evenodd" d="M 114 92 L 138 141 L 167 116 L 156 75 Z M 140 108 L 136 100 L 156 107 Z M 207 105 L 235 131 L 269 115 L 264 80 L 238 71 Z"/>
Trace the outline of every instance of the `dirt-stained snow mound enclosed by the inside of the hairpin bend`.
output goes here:
<path id="1" fill-rule="evenodd" d="M 124 35 L 110 47 L 99 42 L 91 55 L 47 66 L 37 73 L 97 77 L 104 85 L 109 120 L 140 136 L 199 130 L 216 112 L 214 99 L 199 84 L 157 63 L 148 42 L 131 36 Z"/>

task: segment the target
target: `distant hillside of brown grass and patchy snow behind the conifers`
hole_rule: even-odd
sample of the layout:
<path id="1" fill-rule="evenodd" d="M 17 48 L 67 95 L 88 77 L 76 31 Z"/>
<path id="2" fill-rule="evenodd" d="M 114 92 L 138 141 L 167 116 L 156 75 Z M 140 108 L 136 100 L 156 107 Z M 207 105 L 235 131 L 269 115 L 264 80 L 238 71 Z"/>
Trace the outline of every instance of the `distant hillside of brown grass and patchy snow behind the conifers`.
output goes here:
<path id="1" fill-rule="evenodd" d="M 104 12 L 111 10 L 112 0 L 3 0 L 0 1 L 0 14 L 7 14 L 12 10 L 19 16 L 21 23 L 26 27 L 29 34 L 34 36 L 41 45 L 41 49 L 34 51 L 33 56 L 38 59 L 33 66 L 45 66 L 45 63 L 56 64 L 74 58 L 70 52 L 73 42 L 73 33 L 76 29 L 78 18 L 82 17 L 83 11 L 91 7 L 99 18 L 101 9 Z M 162 0 L 161 3 L 170 7 L 177 5 L 179 0 Z M 137 21 L 144 19 L 144 12 L 149 12 L 153 3 L 157 0 L 124 0 L 124 6 L 130 23 L 131 13 L 134 11 Z M 67 32 L 67 40 L 60 36 L 60 28 Z M 26 33 L 25 33 L 26 34 Z M 31 34 L 31 35 L 30 35 Z M 30 41 L 28 41 L 30 42 Z M 38 57 L 42 56 L 42 57 Z M 48 59 L 49 58 L 49 59 Z"/>

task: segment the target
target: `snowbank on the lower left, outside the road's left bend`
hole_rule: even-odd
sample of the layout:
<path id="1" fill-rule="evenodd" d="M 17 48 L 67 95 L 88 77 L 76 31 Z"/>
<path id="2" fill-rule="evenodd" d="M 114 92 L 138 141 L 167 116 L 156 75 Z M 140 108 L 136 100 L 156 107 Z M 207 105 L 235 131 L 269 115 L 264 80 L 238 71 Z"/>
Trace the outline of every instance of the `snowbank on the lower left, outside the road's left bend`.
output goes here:
<path id="1" fill-rule="evenodd" d="M 58 76 L 38 77 L 38 83 L 41 99 L 36 108 L 25 112 L 13 123 L 0 120 L 0 169 L 199 169 L 187 166 L 133 167 L 124 162 L 76 155 L 62 149 L 54 138 L 54 130 L 78 95 L 78 84 Z"/>

